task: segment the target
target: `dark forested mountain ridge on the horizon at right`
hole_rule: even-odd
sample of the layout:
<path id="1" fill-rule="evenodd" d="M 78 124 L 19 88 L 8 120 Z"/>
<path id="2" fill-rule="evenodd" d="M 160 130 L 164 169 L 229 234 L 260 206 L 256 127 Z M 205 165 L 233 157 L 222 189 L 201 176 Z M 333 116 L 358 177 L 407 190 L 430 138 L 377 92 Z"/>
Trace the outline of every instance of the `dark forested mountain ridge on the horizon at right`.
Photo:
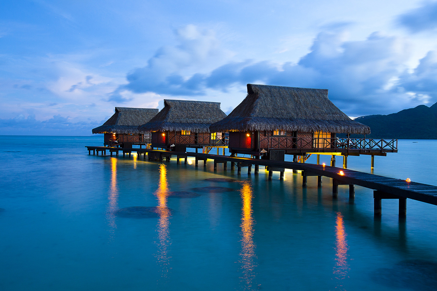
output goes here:
<path id="1" fill-rule="evenodd" d="M 370 126 L 371 133 L 366 138 L 437 139 L 437 103 L 431 107 L 419 105 L 398 113 L 367 115 L 354 120 Z"/>

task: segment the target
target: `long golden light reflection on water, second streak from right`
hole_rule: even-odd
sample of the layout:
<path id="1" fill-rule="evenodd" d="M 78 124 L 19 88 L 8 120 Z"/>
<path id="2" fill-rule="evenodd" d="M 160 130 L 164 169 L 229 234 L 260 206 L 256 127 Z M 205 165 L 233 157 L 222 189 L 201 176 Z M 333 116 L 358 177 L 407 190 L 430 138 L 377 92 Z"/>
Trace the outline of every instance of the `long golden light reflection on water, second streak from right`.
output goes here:
<path id="1" fill-rule="evenodd" d="M 243 208 L 241 216 L 241 253 L 240 263 L 242 269 L 242 276 L 240 282 L 244 285 L 244 290 L 252 290 L 254 288 L 256 267 L 255 249 L 256 245 L 253 242 L 253 225 L 255 221 L 252 217 L 252 186 L 249 182 L 244 182 L 240 190 L 241 198 L 243 199 Z"/>

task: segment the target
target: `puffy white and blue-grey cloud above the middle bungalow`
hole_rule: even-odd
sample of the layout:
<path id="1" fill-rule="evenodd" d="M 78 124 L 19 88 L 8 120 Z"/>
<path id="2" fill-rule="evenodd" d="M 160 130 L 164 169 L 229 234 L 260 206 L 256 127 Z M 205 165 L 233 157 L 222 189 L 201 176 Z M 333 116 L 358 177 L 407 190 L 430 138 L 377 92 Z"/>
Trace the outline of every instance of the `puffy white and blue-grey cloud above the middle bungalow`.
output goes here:
<path id="1" fill-rule="evenodd" d="M 126 79 L 128 84 L 117 91 L 127 89 L 134 93 L 195 96 L 204 94 L 202 70 L 227 59 L 231 53 L 221 49 L 212 30 L 200 30 L 187 25 L 175 31 L 178 45 L 157 50 L 146 66 L 136 68 Z"/>

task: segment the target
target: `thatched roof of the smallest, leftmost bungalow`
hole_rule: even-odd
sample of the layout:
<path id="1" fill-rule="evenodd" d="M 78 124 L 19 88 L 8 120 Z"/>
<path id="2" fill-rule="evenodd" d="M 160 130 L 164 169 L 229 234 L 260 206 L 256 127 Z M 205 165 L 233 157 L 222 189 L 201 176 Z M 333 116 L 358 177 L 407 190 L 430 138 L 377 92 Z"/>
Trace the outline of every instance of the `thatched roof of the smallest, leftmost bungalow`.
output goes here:
<path id="1" fill-rule="evenodd" d="M 93 133 L 139 133 L 138 126 L 151 120 L 158 109 L 116 107 L 116 112 Z"/>

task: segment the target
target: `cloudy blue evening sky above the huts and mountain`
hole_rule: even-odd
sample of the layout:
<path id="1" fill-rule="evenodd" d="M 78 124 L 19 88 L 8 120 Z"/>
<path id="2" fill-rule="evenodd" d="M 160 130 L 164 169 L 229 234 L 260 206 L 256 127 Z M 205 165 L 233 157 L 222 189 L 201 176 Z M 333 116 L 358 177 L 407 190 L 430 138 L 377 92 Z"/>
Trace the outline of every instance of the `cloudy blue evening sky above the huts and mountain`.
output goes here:
<path id="1" fill-rule="evenodd" d="M 437 2 L 1 1 L 0 134 L 91 135 L 115 106 L 329 89 L 351 117 L 437 102 Z"/>

